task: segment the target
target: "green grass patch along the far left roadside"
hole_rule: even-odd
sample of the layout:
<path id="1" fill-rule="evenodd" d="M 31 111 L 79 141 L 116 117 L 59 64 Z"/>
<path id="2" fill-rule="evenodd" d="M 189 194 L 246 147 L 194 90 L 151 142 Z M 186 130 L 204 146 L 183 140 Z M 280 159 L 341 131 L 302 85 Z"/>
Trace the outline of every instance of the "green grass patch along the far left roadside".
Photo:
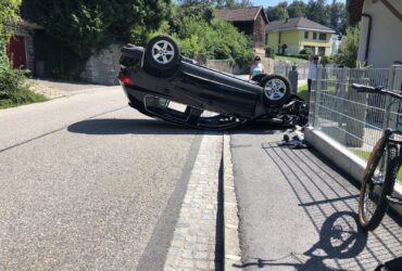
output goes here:
<path id="1" fill-rule="evenodd" d="M 12 91 L 0 91 L 0 109 L 46 101 L 48 101 L 46 96 L 35 93 L 27 88 Z"/>

